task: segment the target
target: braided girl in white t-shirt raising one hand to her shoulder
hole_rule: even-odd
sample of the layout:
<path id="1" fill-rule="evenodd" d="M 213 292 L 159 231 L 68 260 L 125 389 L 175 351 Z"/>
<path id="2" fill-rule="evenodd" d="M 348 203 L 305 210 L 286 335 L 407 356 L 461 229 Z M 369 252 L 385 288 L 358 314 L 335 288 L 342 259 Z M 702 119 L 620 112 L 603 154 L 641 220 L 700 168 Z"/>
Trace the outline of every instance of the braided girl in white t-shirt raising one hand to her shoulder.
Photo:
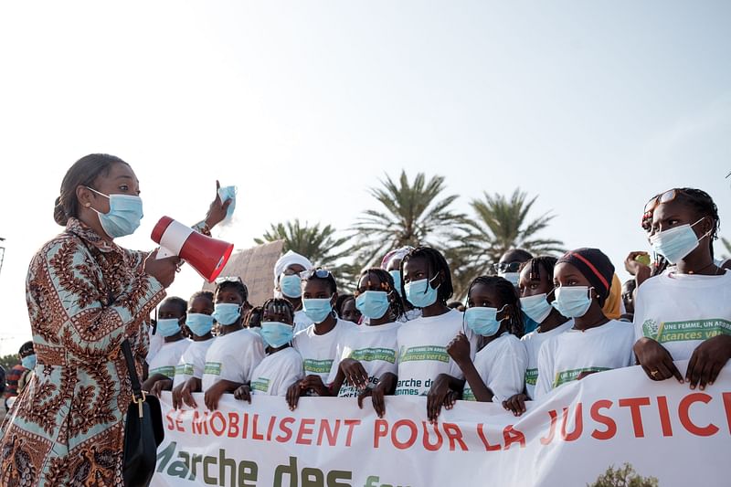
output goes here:
<path id="1" fill-rule="evenodd" d="M 479 337 L 479 352 L 472 360 L 470 342 L 463 333 L 447 346 L 447 352 L 464 373 L 466 384 L 462 391 L 450 393 L 445 406 L 451 408 L 460 396 L 465 400 L 501 403 L 523 392 L 527 356 L 519 338 L 523 334 L 523 316 L 513 283 L 497 276 L 481 276 L 472 281 L 464 322 Z"/>

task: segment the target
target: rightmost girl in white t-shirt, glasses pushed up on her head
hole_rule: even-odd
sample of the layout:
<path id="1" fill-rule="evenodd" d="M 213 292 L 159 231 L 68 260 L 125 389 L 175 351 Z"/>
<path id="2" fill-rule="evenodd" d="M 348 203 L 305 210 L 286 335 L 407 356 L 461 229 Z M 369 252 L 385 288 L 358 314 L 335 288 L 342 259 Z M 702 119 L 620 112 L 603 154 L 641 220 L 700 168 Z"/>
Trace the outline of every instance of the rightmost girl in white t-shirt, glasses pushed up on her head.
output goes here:
<path id="1" fill-rule="evenodd" d="M 674 188 L 645 206 L 652 249 L 675 266 L 635 294 L 634 352 L 652 380 L 674 376 L 704 389 L 731 357 L 731 273 L 713 251 L 719 223 L 713 199 L 700 189 Z M 673 360 L 687 359 L 683 380 Z"/>

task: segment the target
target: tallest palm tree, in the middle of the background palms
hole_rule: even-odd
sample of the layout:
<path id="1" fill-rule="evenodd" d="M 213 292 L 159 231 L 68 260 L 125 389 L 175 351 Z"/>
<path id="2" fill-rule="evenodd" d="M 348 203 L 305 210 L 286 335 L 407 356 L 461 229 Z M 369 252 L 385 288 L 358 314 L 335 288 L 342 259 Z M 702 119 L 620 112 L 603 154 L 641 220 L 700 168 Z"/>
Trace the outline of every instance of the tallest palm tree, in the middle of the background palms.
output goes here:
<path id="1" fill-rule="evenodd" d="M 402 170 L 397 181 L 386 175 L 380 183 L 370 188 L 379 208 L 366 210 L 353 228 L 359 241 L 356 262 L 377 264 L 389 249 L 405 245 L 439 247 L 464 226 L 464 216 L 450 209 L 457 196 L 440 197 L 445 189 L 443 176 L 427 180 L 418 173 L 409 181 Z"/>

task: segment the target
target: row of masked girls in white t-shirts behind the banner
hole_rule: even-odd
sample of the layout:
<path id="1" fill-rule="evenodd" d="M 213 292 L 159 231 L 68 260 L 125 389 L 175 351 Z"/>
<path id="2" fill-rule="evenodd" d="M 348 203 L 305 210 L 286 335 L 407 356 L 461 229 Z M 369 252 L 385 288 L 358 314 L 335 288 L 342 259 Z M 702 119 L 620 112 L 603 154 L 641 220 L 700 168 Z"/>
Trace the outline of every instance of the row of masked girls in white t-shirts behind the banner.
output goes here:
<path id="1" fill-rule="evenodd" d="M 620 283 L 599 249 L 533 256 L 512 249 L 452 301 L 439 249 L 402 248 L 363 270 L 355 294 L 292 251 L 274 269 L 272 298 L 248 302 L 238 277 L 158 311 L 145 382 L 175 408 L 217 408 L 223 394 L 427 397 L 427 417 L 457 400 L 492 401 L 516 416 L 525 401 L 590 374 L 639 364 L 652 380 L 713 384 L 731 356 L 731 262 L 714 259 L 717 208 L 705 192 L 653 196 L 642 215 L 654 259 L 631 252 Z M 673 364 L 690 359 L 685 376 Z M 202 406 L 202 405 L 201 405 Z"/>

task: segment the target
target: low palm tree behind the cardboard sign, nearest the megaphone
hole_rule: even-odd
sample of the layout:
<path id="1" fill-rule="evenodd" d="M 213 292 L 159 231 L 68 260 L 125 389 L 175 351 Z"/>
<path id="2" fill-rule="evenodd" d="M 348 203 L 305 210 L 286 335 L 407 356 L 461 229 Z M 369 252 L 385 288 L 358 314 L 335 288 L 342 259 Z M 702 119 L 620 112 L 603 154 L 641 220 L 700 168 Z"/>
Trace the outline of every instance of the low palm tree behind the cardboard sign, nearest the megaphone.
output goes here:
<path id="1" fill-rule="evenodd" d="M 344 249 L 349 238 L 336 237 L 335 228 L 330 225 L 321 228 L 319 223 L 311 226 L 305 222 L 302 225 L 299 218 L 271 224 L 261 238 L 254 238 L 259 245 L 275 240 L 284 240 L 284 252 L 294 250 L 312 260 L 313 264 L 331 270 L 336 269 L 338 260 L 351 254 L 349 249 Z"/>

